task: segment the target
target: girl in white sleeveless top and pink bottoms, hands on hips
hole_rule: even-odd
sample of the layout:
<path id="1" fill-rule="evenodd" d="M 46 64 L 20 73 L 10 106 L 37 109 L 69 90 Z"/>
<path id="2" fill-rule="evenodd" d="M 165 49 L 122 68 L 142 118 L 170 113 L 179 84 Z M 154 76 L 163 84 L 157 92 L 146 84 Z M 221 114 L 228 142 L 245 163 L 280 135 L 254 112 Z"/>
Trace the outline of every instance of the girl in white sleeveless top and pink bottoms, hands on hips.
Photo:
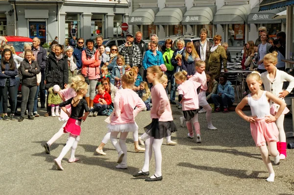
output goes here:
<path id="1" fill-rule="evenodd" d="M 251 91 L 251 94 L 242 99 L 242 101 L 236 107 L 236 112 L 245 121 L 250 122 L 252 138 L 255 142 L 255 145 L 259 147 L 262 160 L 270 173 L 267 181 L 273 182 L 274 171 L 270 163 L 269 151 L 270 156 L 273 157 L 274 164 L 277 164 L 280 161 L 276 144 L 278 141 L 279 131 L 274 122 L 282 114 L 286 107 L 286 103 L 283 102 L 282 99 L 275 97 L 270 92 L 260 89 L 262 80 L 258 72 L 253 71 L 250 73 L 246 78 L 246 82 L 249 90 Z M 274 101 L 280 105 L 275 116 L 270 115 L 270 104 L 268 100 Z M 246 116 L 242 111 L 243 107 L 247 103 L 250 106 L 252 116 Z M 269 151 L 266 143 L 269 146 Z"/>

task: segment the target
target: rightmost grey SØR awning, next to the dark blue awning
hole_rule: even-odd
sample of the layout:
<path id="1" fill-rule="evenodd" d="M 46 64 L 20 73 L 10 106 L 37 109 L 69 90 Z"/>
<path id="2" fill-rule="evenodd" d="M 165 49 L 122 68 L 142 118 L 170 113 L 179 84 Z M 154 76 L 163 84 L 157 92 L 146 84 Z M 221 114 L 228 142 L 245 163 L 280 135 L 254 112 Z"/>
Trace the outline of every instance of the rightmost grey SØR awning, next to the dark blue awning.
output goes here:
<path id="1" fill-rule="evenodd" d="M 272 19 L 277 13 L 285 10 L 286 8 L 276 8 L 268 11 L 259 11 L 259 5 L 251 9 L 248 15 L 248 24 L 276 24 L 281 23 L 281 19 Z"/>

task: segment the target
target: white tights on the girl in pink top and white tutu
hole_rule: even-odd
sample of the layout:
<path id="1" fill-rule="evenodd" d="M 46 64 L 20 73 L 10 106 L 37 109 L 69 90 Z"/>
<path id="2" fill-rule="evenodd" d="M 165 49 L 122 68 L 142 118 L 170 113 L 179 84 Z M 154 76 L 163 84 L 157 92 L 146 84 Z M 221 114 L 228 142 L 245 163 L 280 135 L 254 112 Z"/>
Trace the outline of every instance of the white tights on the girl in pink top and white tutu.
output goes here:
<path id="1" fill-rule="evenodd" d="M 110 133 L 110 140 L 112 145 L 115 147 L 115 149 L 117 150 L 118 153 L 120 153 L 120 151 L 123 151 L 124 156 L 123 156 L 123 161 L 122 161 L 122 165 L 126 165 L 126 155 L 127 155 L 127 149 L 126 149 L 126 145 L 125 145 L 125 141 L 126 141 L 126 137 L 128 132 L 121 132 L 121 136 L 120 136 L 120 143 L 118 143 L 118 134 L 120 132 L 119 131 L 112 131 Z"/>

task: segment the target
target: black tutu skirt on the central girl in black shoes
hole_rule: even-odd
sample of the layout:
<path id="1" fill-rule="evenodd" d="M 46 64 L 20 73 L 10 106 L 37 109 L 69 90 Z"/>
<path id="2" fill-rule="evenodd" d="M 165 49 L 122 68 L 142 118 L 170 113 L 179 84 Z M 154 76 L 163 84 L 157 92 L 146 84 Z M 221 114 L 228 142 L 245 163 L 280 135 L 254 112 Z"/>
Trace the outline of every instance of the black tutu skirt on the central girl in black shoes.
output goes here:
<path id="1" fill-rule="evenodd" d="M 154 139 L 162 139 L 167 136 L 171 136 L 173 132 L 176 132 L 176 126 L 173 121 L 158 121 L 158 119 L 152 119 L 152 122 L 144 127 L 145 132 L 154 137 Z"/>

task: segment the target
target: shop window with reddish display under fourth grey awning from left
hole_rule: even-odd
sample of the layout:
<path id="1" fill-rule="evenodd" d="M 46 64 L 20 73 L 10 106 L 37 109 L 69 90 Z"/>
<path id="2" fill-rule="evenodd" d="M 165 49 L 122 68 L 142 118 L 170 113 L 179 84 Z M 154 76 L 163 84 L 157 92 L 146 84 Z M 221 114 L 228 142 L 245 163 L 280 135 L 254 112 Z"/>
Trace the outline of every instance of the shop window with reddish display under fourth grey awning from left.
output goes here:
<path id="1" fill-rule="evenodd" d="M 245 43 L 245 24 L 229 24 L 228 36 L 230 47 L 243 46 Z"/>

